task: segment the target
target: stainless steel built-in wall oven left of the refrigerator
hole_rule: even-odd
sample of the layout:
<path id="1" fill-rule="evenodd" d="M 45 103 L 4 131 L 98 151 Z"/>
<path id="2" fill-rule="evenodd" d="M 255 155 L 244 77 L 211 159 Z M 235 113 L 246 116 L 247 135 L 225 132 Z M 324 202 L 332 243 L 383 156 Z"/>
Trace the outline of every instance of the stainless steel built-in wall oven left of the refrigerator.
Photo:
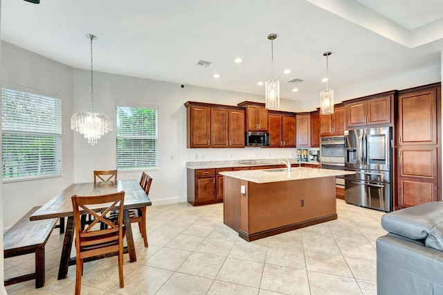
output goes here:
<path id="1" fill-rule="evenodd" d="M 323 169 L 345 170 L 345 136 L 320 138 L 320 166 Z M 344 177 L 336 177 L 336 187 L 345 189 Z"/>

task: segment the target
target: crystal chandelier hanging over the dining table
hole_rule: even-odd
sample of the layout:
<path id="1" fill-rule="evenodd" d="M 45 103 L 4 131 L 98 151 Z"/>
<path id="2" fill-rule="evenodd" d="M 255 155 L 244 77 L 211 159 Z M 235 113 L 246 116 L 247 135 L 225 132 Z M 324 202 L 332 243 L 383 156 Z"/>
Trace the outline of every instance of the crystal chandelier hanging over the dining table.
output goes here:
<path id="1" fill-rule="evenodd" d="M 80 111 L 71 117 L 71 129 L 83 134 L 88 139 L 88 143 L 94 145 L 98 138 L 112 130 L 112 121 L 105 114 L 94 113 L 93 111 L 93 68 L 92 68 L 92 40 L 97 36 L 87 34 L 91 39 L 91 111 Z"/>

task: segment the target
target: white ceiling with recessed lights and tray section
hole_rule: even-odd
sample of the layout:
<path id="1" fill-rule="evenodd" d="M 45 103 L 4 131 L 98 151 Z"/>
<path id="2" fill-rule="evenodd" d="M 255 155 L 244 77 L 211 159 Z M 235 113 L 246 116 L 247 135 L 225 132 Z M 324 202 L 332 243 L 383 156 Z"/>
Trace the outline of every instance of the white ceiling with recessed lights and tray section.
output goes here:
<path id="1" fill-rule="evenodd" d="M 440 66 L 443 1 L 1 1 L 1 39 L 52 60 L 89 69 L 87 33 L 94 71 L 257 95 L 273 74 L 282 98 L 318 100 L 325 51 L 336 93 Z"/>

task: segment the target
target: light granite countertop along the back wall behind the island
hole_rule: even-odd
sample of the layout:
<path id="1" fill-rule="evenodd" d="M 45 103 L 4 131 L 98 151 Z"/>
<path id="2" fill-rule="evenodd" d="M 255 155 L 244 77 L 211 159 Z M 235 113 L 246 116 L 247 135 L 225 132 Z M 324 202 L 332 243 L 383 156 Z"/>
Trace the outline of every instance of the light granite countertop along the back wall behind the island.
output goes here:
<path id="1" fill-rule="evenodd" d="M 190 169 L 213 169 L 213 168 L 230 168 L 230 167 L 248 167 L 248 166 L 266 166 L 266 165 L 282 165 L 280 161 L 286 159 L 257 159 L 257 160 L 231 160 L 231 161 L 194 161 L 186 162 L 186 168 Z M 291 164 L 298 164 L 296 159 L 289 159 Z M 300 162 L 305 164 L 314 164 L 320 167 L 318 161 Z"/>

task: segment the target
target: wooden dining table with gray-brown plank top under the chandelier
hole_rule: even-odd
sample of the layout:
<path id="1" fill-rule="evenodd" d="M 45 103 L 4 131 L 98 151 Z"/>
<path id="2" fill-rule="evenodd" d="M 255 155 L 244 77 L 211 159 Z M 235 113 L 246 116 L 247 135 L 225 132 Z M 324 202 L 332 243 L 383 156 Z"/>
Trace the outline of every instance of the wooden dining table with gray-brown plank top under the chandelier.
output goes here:
<path id="1" fill-rule="evenodd" d="M 58 271 L 58 279 L 66 278 L 68 274 L 68 268 L 70 265 L 75 265 L 75 257 L 71 258 L 71 249 L 74 236 L 74 217 L 71 197 L 73 195 L 90 196 L 90 195 L 106 195 L 111 193 L 118 193 L 125 191 L 125 202 L 123 210 L 123 224 L 126 228 L 126 240 L 127 247 L 125 247 L 125 253 L 129 253 L 129 260 L 135 262 L 136 251 L 134 247 L 134 238 L 132 236 L 131 220 L 129 219 L 129 209 L 141 208 L 151 206 L 152 202 L 146 195 L 145 190 L 138 184 L 135 179 L 130 180 L 118 180 L 118 181 L 106 181 L 106 182 L 93 182 L 83 184 L 71 184 L 68 188 L 62 191 L 62 193 L 53 197 L 42 208 L 35 211 L 33 215 L 30 215 L 29 219 L 32 220 L 44 220 L 50 218 L 67 217 L 66 231 L 64 233 L 62 257 L 60 258 L 60 267 Z M 107 206 L 96 206 L 93 209 L 97 212 L 107 208 Z M 116 253 L 114 253 L 116 254 Z M 96 260 L 113 256 L 114 254 L 107 256 L 100 256 L 96 258 L 85 259 L 84 262 Z"/>

